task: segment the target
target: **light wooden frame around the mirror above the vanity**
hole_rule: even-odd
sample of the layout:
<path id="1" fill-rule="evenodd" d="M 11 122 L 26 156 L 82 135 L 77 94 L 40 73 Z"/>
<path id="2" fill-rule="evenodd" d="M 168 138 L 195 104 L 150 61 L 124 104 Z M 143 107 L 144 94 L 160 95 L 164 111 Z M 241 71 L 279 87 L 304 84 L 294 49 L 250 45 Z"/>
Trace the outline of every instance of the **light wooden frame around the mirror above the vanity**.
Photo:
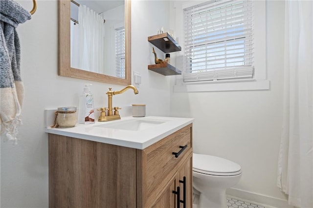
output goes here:
<path id="1" fill-rule="evenodd" d="M 125 0 L 125 79 L 71 67 L 70 4 L 70 0 L 58 0 L 58 75 L 119 85 L 131 84 L 131 0 Z"/>

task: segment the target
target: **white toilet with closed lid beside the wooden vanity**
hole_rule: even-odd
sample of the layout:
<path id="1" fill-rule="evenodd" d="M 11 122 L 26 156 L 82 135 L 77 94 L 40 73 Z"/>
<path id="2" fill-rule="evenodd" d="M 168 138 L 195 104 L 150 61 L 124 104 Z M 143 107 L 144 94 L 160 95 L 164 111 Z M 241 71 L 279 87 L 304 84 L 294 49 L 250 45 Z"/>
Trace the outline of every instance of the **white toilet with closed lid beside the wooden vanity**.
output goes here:
<path id="1" fill-rule="evenodd" d="M 242 175 L 241 166 L 224 158 L 193 153 L 193 187 L 200 192 L 198 208 L 227 208 L 226 188 Z"/>

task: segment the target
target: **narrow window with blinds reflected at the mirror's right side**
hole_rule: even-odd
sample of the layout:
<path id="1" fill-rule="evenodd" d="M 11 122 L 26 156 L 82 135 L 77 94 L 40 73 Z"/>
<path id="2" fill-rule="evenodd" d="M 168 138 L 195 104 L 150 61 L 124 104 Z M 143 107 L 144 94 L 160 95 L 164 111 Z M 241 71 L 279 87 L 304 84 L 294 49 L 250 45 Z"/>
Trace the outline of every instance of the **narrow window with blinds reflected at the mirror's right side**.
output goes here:
<path id="1" fill-rule="evenodd" d="M 125 78 L 125 28 L 115 29 L 115 76 Z"/>

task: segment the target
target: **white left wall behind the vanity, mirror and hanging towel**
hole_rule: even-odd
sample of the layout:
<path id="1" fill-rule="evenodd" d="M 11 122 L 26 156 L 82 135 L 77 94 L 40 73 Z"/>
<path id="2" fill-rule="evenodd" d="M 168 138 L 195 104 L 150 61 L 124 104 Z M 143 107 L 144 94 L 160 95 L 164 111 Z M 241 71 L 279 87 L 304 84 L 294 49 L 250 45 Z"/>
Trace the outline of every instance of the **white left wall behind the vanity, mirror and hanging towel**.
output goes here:
<path id="1" fill-rule="evenodd" d="M 32 1 L 19 1 L 30 10 Z M 147 115 L 169 116 L 170 79 L 148 71 L 153 63 L 147 37 L 167 27 L 167 1 L 132 2 L 132 69 L 142 75 L 139 94 L 128 90 L 113 97 L 113 104 L 147 104 Z M 162 15 L 160 15 L 162 11 Z M 18 145 L 1 138 L 1 208 L 48 207 L 48 143 L 44 110 L 77 106 L 84 83 L 92 83 L 95 106 L 106 106 L 108 87 L 123 86 L 60 77 L 57 75 L 57 1 L 38 0 L 36 13 L 18 27 L 22 46 L 21 71 L 25 86 L 23 125 Z M 122 109 L 123 110 L 123 109 Z M 122 111 L 121 110 L 121 111 Z"/>

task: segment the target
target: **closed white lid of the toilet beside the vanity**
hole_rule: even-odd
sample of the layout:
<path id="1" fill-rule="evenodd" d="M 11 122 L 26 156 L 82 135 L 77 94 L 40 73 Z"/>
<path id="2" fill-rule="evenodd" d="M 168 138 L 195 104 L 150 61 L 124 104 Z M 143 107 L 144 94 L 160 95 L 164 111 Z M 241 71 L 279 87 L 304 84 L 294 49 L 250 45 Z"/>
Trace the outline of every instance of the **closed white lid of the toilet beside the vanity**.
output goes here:
<path id="1" fill-rule="evenodd" d="M 193 153 L 193 170 L 209 175 L 239 175 L 241 166 L 224 158 Z"/>

